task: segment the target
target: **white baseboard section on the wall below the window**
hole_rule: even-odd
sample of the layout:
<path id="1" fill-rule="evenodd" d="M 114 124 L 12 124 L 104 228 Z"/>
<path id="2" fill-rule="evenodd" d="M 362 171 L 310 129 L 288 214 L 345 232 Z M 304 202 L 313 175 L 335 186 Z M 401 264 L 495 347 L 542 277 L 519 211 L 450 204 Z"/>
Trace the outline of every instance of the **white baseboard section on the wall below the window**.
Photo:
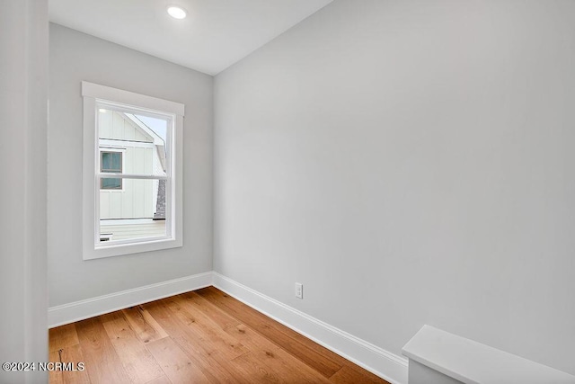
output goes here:
<path id="1" fill-rule="evenodd" d="M 210 285 L 212 285 L 211 271 L 50 307 L 48 309 L 49 328 L 133 307 L 148 301 L 164 299 L 178 293 L 199 290 Z"/>

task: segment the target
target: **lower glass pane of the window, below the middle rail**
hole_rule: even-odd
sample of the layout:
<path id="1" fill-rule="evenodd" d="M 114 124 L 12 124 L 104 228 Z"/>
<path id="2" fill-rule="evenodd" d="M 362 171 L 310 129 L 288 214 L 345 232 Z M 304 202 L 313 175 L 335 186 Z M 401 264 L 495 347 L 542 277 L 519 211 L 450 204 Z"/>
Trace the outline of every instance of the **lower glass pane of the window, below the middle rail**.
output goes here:
<path id="1" fill-rule="evenodd" d="M 106 180 L 120 179 L 102 178 L 102 183 Z M 122 192 L 100 192 L 101 241 L 166 236 L 165 181 L 132 178 L 121 181 Z"/>

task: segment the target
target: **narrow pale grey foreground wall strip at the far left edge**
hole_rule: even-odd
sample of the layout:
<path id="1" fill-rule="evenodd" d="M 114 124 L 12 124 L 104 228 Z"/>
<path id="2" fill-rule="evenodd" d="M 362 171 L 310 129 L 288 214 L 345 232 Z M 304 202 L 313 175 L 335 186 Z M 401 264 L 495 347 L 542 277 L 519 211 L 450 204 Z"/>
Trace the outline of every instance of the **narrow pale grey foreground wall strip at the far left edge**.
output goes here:
<path id="1" fill-rule="evenodd" d="M 48 3 L 0 2 L 0 362 L 48 360 Z M 48 381 L 0 371 L 0 382 Z"/>

